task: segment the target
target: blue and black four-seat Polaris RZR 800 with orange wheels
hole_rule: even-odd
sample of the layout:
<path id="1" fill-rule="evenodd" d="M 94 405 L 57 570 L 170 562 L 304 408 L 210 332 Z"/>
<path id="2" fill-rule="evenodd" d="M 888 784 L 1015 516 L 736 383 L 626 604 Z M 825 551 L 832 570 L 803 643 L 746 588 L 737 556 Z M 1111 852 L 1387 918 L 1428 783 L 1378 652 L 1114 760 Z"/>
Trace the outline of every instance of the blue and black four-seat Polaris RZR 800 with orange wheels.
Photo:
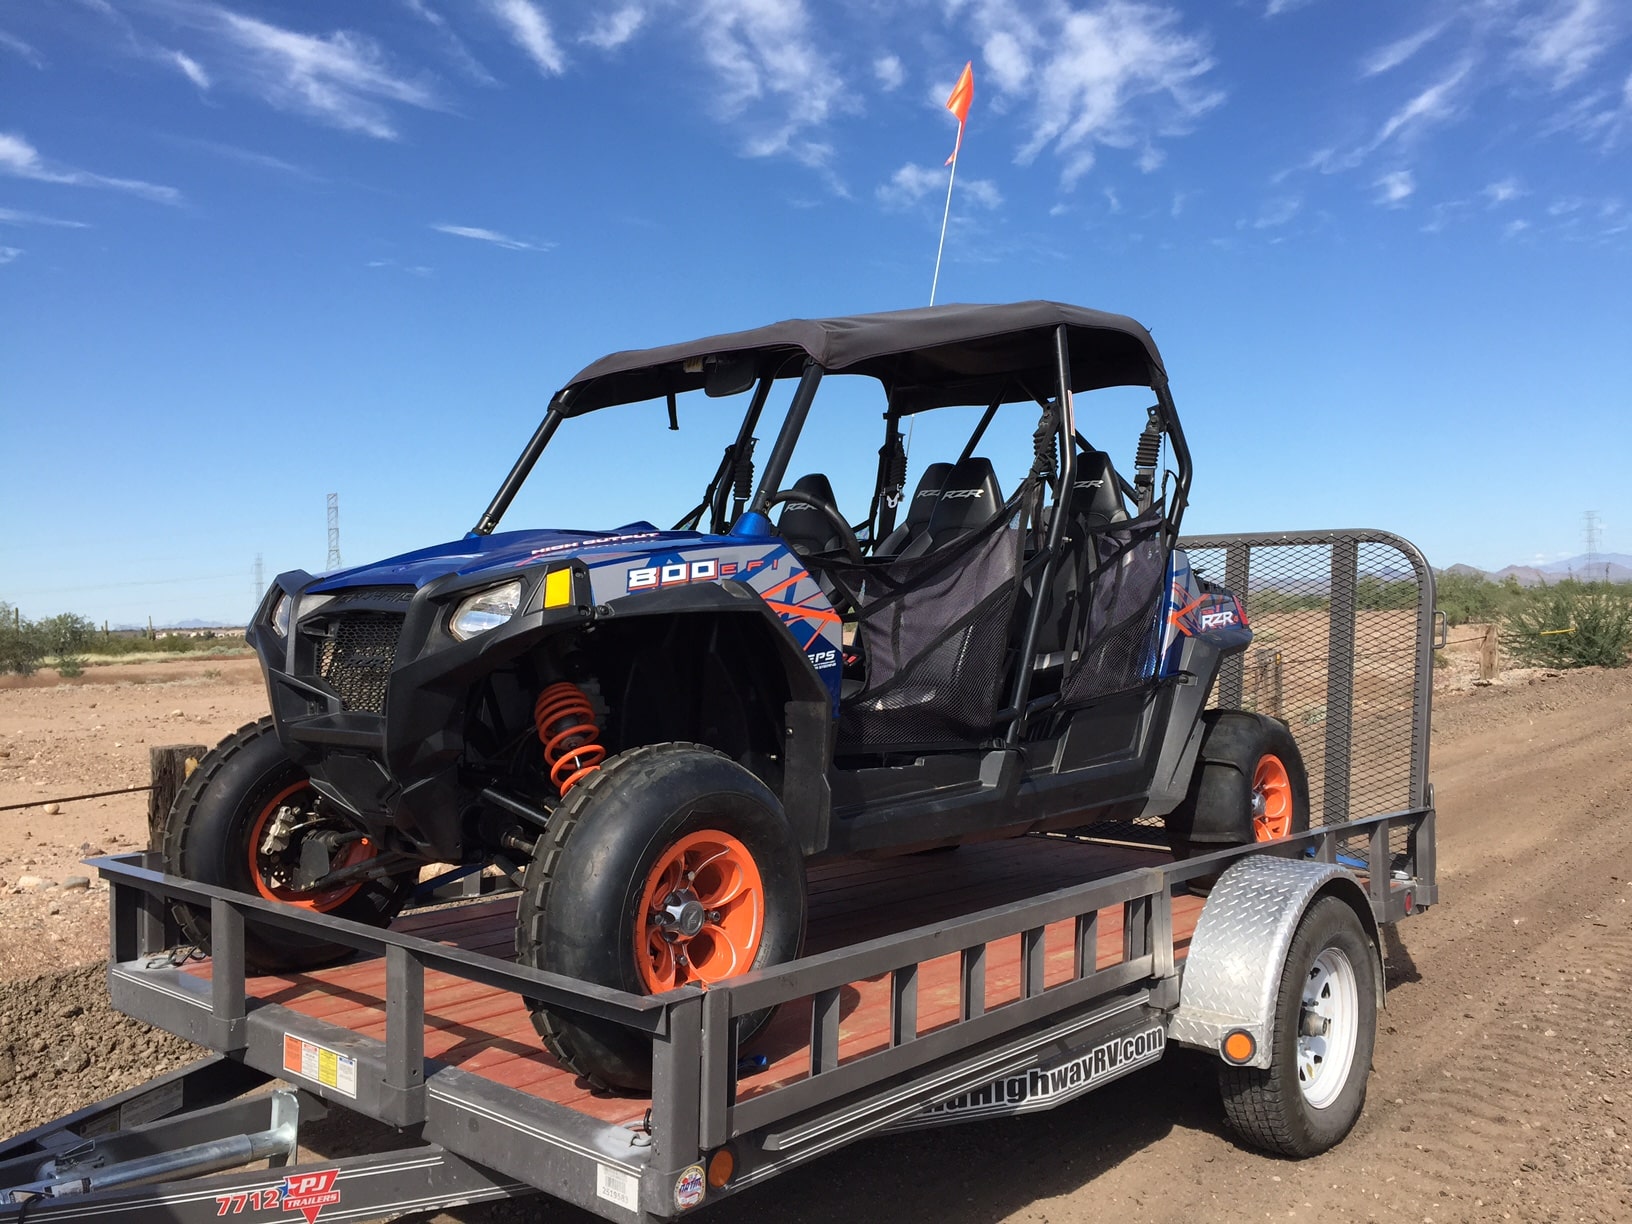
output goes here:
<path id="1" fill-rule="evenodd" d="M 881 446 L 836 385 L 876 400 Z M 1118 468 L 1093 393 L 1126 387 L 1154 405 Z M 741 418 L 672 527 L 496 530 L 560 429 L 725 411 L 697 392 Z M 912 423 L 960 408 L 961 449 L 909 462 Z M 790 475 L 813 432 L 867 457 L 865 506 L 834 494 L 854 463 Z M 1252 635 L 1177 547 L 1190 480 L 1162 359 L 1118 315 L 950 305 L 612 354 L 553 397 L 468 535 L 277 578 L 248 635 L 271 716 L 201 762 L 165 854 L 375 924 L 428 865 L 498 867 L 521 963 L 654 994 L 798 956 L 811 860 L 1138 816 L 1178 855 L 1307 829 L 1286 728 L 1204 708 Z M 207 914 L 181 920 L 207 945 Z M 266 969 L 346 955 L 253 922 L 245 948 Z M 589 1080 L 650 1082 L 638 1033 L 534 1020 Z"/>

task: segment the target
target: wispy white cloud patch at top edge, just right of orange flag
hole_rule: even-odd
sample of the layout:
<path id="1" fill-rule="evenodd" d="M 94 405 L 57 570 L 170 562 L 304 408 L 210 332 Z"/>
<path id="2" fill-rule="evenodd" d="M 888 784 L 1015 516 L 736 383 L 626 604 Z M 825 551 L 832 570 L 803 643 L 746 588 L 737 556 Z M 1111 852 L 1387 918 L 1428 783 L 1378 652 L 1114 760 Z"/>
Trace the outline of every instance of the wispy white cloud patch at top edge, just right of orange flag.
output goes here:
<path id="1" fill-rule="evenodd" d="M 973 23 L 999 95 L 1031 104 L 1018 160 L 1053 149 L 1066 188 L 1093 166 L 1102 145 L 1141 149 L 1151 165 L 1160 137 L 1190 132 L 1224 101 L 1208 83 L 1208 41 L 1164 5 L 1103 0 L 1022 13 L 1004 0 L 981 0 Z"/>

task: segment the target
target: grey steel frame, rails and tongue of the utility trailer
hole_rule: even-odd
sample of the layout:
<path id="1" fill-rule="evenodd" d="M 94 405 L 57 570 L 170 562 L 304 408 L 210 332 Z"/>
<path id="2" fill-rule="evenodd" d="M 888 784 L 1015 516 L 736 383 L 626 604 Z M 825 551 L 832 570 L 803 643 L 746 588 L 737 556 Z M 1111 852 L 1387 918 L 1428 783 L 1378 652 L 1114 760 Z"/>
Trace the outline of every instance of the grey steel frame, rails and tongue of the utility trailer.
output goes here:
<path id="1" fill-rule="evenodd" d="M 318 1102 L 339 1105 L 398 1128 L 408 1146 L 349 1162 L 188 1182 L 188 1190 L 98 1191 L 88 1183 L 90 1193 L 70 1200 L 42 1198 L 24 1206 L 0 1201 L 0 1221 L 20 1219 L 23 1211 L 28 1219 L 46 1219 L 64 1206 L 73 1206 L 82 1216 L 96 1208 L 126 1213 L 118 1214 L 119 1219 L 140 1219 L 131 1214 L 137 1203 L 131 1195 L 147 1196 L 140 1200 L 142 1209 L 160 1213 L 149 1216 L 155 1221 L 220 1214 L 287 1221 L 292 1216 L 284 1213 L 292 1209 L 294 1188 L 322 1185 L 325 1177 L 323 1193 L 331 1198 L 307 1216 L 308 1224 L 318 1217 L 361 1217 L 370 1208 L 385 1209 L 408 1198 L 436 1206 L 532 1188 L 612 1221 L 672 1219 L 865 1134 L 937 1124 L 956 1120 L 960 1111 L 981 1116 L 986 1108 L 981 1093 L 1004 1077 L 1041 1074 L 1046 1080 L 1051 1067 L 1074 1064 L 1082 1071 L 1080 1089 L 1085 1090 L 1154 1061 L 1182 1007 L 1188 938 L 1175 937 L 1175 901 L 1183 898 L 1185 912 L 1195 917 L 1200 902 L 1188 894 L 1191 881 L 1222 876 L 1222 888 L 1235 863 L 1263 855 L 1286 860 L 1278 870 L 1307 870 L 1322 881 L 1335 881 L 1346 889 L 1345 899 L 1368 911 L 1373 924 L 1397 922 L 1438 901 L 1433 790 L 1426 778 L 1430 697 L 1423 679 L 1423 667 L 1431 666 L 1433 576 L 1420 553 L 1381 532 L 1217 537 L 1186 545 L 1224 548 L 1232 566 L 1250 565 L 1253 550 L 1265 547 L 1328 550 L 1328 641 L 1338 654 L 1351 651 L 1355 643 L 1353 558 L 1355 547 L 1364 542 L 1405 553 L 1418 584 L 1417 615 L 1412 617 L 1415 640 L 1408 646 L 1417 654 L 1408 712 L 1408 795 L 1397 809 L 1332 819 L 1346 814 L 1350 757 L 1343 738 L 1351 736 L 1353 728 L 1345 708 L 1330 720 L 1342 734 L 1330 725 L 1320 728 L 1337 749 L 1325 754 L 1327 823 L 1320 827 L 1268 845 L 1126 870 L 938 925 L 806 956 L 713 989 L 685 986 L 661 996 L 627 994 L 410 932 L 380 930 L 170 876 L 160 870 L 158 855 L 93 860 L 111 886 L 108 981 L 114 1005 L 215 1051 L 215 1058 L 176 1072 L 180 1089 L 155 1080 L 124 1098 L 0 1146 L 0 1173 L 7 1173 L 0 1185 L 38 1180 L 8 1182 L 8 1177 L 26 1170 L 28 1160 L 72 1152 L 77 1141 L 90 1139 L 109 1118 L 122 1118 L 122 1106 L 131 1102 L 145 1102 L 137 1115 L 157 1116 L 145 1126 L 160 1129 L 193 1126 L 188 1120 L 197 1115 L 186 1110 L 194 1105 L 237 1110 L 222 1115 L 227 1131 L 259 1134 L 274 1129 L 276 1118 L 266 1113 L 271 1105 L 217 1105 L 242 1092 L 245 1084 L 273 1079 L 295 1084 L 300 1092 L 294 1100 L 307 1113 L 318 1108 Z M 1345 674 L 1351 698 L 1351 666 L 1328 669 L 1328 694 L 1342 695 Z M 1222 689 L 1235 684 L 1239 676 L 1221 677 Z M 207 976 L 189 965 L 191 950 L 178 947 L 181 935 L 171 909 L 176 902 L 209 909 L 212 958 Z M 384 961 L 384 1033 L 367 1036 L 253 997 L 245 976 L 245 920 L 317 935 Z M 1120 940 L 1115 940 L 1111 934 L 1118 925 Z M 1120 947 L 1106 955 L 1106 942 Z M 999 961 L 999 948 L 1002 955 L 1017 950 L 1018 960 L 1012 989 L 1005 986 L 1009 994 L 994 1000 L 987 969 Z M 925 1012 L 920 1023 L 927 966 L 937 961 L 942 968 L 955 965 L 955 1015 L 929 1020 Z M 434 1018 L 426 1007 L 428 971 L 648 1035 L 653 1089 L 645 1118 L 636 1124 L 609 1123 L 460 1066 L 428 1059 L 428 1015 Z M 855 1049 L 852 1043 L 840 1049 L 847 994 L 860 989 L 875 992 L 875 999 L 876 992 L 886 992 L 888 1028 L 867 1048 Z M 808 1040 L 800 1048 L 803 1062 L 796 1074 L 769 1082 L 744 1061 L 752 1048 L 739 1048 L 736 1020 L 778 1005 L 808 1009 Z M 289 1041 L 308 1044 L 318 1051 L 317 1058 L 328 1059 L 326 1066 L 290 1067 Z M 1090 1058 L 1106 1049 L 1110 1058 L 1098 1062 Z M 1121 1059 L 1116 1049 L 1134 1054 Z M 155 1090 L 165 1093 L 157 1102 L 152 1098 Z M 1038 1106 L 1061 1098 L 1056 1093 Z M 168 1116 L 178 1110 L 183 1113 Z M 129 1134 L 121 1131 L 121 1142 L 129 1142 Z M 144 1134 L 142 1128 L 134 1134 Z M 168 1147 L 175 1142 L 171 1139 Z M 166 1149 L 160 1131 L 147 1147 Z M 142 1144 L 135 1142 L 132 1151 L 144 1151 Z M 720 1152 L 731 1154 L 733 1170 L 723 1183 L 715 1183 L 710 1180 L 712 1159 Z M 95 1164 L 98 1157 L 82 1152 L 80 1159 Z M 67 1167 L 72 1170 L 73 1162 Z M 411 1193 L 397 1193 L 410 1182 L 392 1170 L 410 1169 Z M 299 1182 L 308 1177 L 318 1182 Z M 370 1196 L 369 1186 L 379 1193 Z M 279 1209 L 264 1208 L 274 1188 L 282 1203 Z M 233 1198 L 240 1193 L 245 1195 L 242 1201 Z"/>

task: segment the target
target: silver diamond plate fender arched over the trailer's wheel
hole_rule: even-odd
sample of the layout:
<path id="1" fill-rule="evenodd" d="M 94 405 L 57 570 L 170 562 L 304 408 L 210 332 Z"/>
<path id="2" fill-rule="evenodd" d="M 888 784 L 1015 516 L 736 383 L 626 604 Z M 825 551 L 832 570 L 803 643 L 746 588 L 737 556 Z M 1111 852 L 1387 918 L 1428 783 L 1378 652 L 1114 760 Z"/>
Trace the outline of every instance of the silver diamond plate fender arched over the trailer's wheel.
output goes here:
<path id="1" fill-rule="evenodd" d="M 1328 893 L 1355 909 L 1376 948 L 1371 904 L 1359 881 L 1342 867 L 1268 855 L 1231 865 L 1213 886 L 1190 940 L 1169 1040 L 1216 1054 L 1224 1036 L 1242 1028 L 1257 1046 L 1247 1066 L 1268 1067 L 1286 951 L 1304 911 Z M 1381 1004 L 1381 955 L 1373 958 L 1373 973 Z"/>

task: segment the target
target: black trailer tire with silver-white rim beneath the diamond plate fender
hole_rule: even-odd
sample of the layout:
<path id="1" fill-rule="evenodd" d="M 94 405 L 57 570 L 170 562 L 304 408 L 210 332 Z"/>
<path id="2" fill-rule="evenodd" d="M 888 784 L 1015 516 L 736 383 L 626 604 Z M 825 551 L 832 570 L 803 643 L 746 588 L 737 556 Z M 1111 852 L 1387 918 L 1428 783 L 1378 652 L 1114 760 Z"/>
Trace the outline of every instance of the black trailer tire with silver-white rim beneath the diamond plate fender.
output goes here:
<path id="1" fill-rule="evenodd" d="M 1366 1105 L 1377 1040 L 1376 951 L 1355 911 L 1333 896 L 1304 914 L 1286 953 L 1268 1069 L 1224 1066 L 1224 1113 L 1247 1142 L 1319 1155 Z"/>

